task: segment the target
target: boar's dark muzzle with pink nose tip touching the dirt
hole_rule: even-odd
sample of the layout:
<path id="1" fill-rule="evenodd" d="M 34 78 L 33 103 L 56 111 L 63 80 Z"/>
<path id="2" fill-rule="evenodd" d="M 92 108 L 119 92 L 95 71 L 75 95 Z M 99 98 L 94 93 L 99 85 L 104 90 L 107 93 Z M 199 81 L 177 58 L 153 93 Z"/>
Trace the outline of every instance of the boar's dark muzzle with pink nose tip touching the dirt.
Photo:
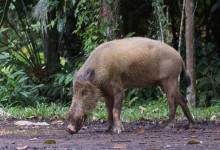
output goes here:
<path id="1" fill-rule="evenodd" d="M 86 115 L 84 115 L 81 118 L 72 119 L 71 122 L 68 124 L 66 131 L 70 134 L 77 133 L 84 125 L 86 118 Z"/>

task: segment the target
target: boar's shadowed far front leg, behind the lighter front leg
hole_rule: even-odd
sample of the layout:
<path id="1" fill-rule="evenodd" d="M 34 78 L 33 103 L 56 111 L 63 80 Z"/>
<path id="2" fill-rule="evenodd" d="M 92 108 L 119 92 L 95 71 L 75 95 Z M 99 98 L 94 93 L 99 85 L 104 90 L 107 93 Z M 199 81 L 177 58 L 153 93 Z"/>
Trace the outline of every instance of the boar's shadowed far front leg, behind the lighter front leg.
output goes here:
<path id="1" fill-rule="evenodd" d="M 106 96 L 105 98 L 105 105 L 108 113 L 108 129 L 107 131 L 111 131 L 113 129 L 114 123 L 113 123 L 113 104 L 114 104 L 114 98 L 110 96 Z"/>

